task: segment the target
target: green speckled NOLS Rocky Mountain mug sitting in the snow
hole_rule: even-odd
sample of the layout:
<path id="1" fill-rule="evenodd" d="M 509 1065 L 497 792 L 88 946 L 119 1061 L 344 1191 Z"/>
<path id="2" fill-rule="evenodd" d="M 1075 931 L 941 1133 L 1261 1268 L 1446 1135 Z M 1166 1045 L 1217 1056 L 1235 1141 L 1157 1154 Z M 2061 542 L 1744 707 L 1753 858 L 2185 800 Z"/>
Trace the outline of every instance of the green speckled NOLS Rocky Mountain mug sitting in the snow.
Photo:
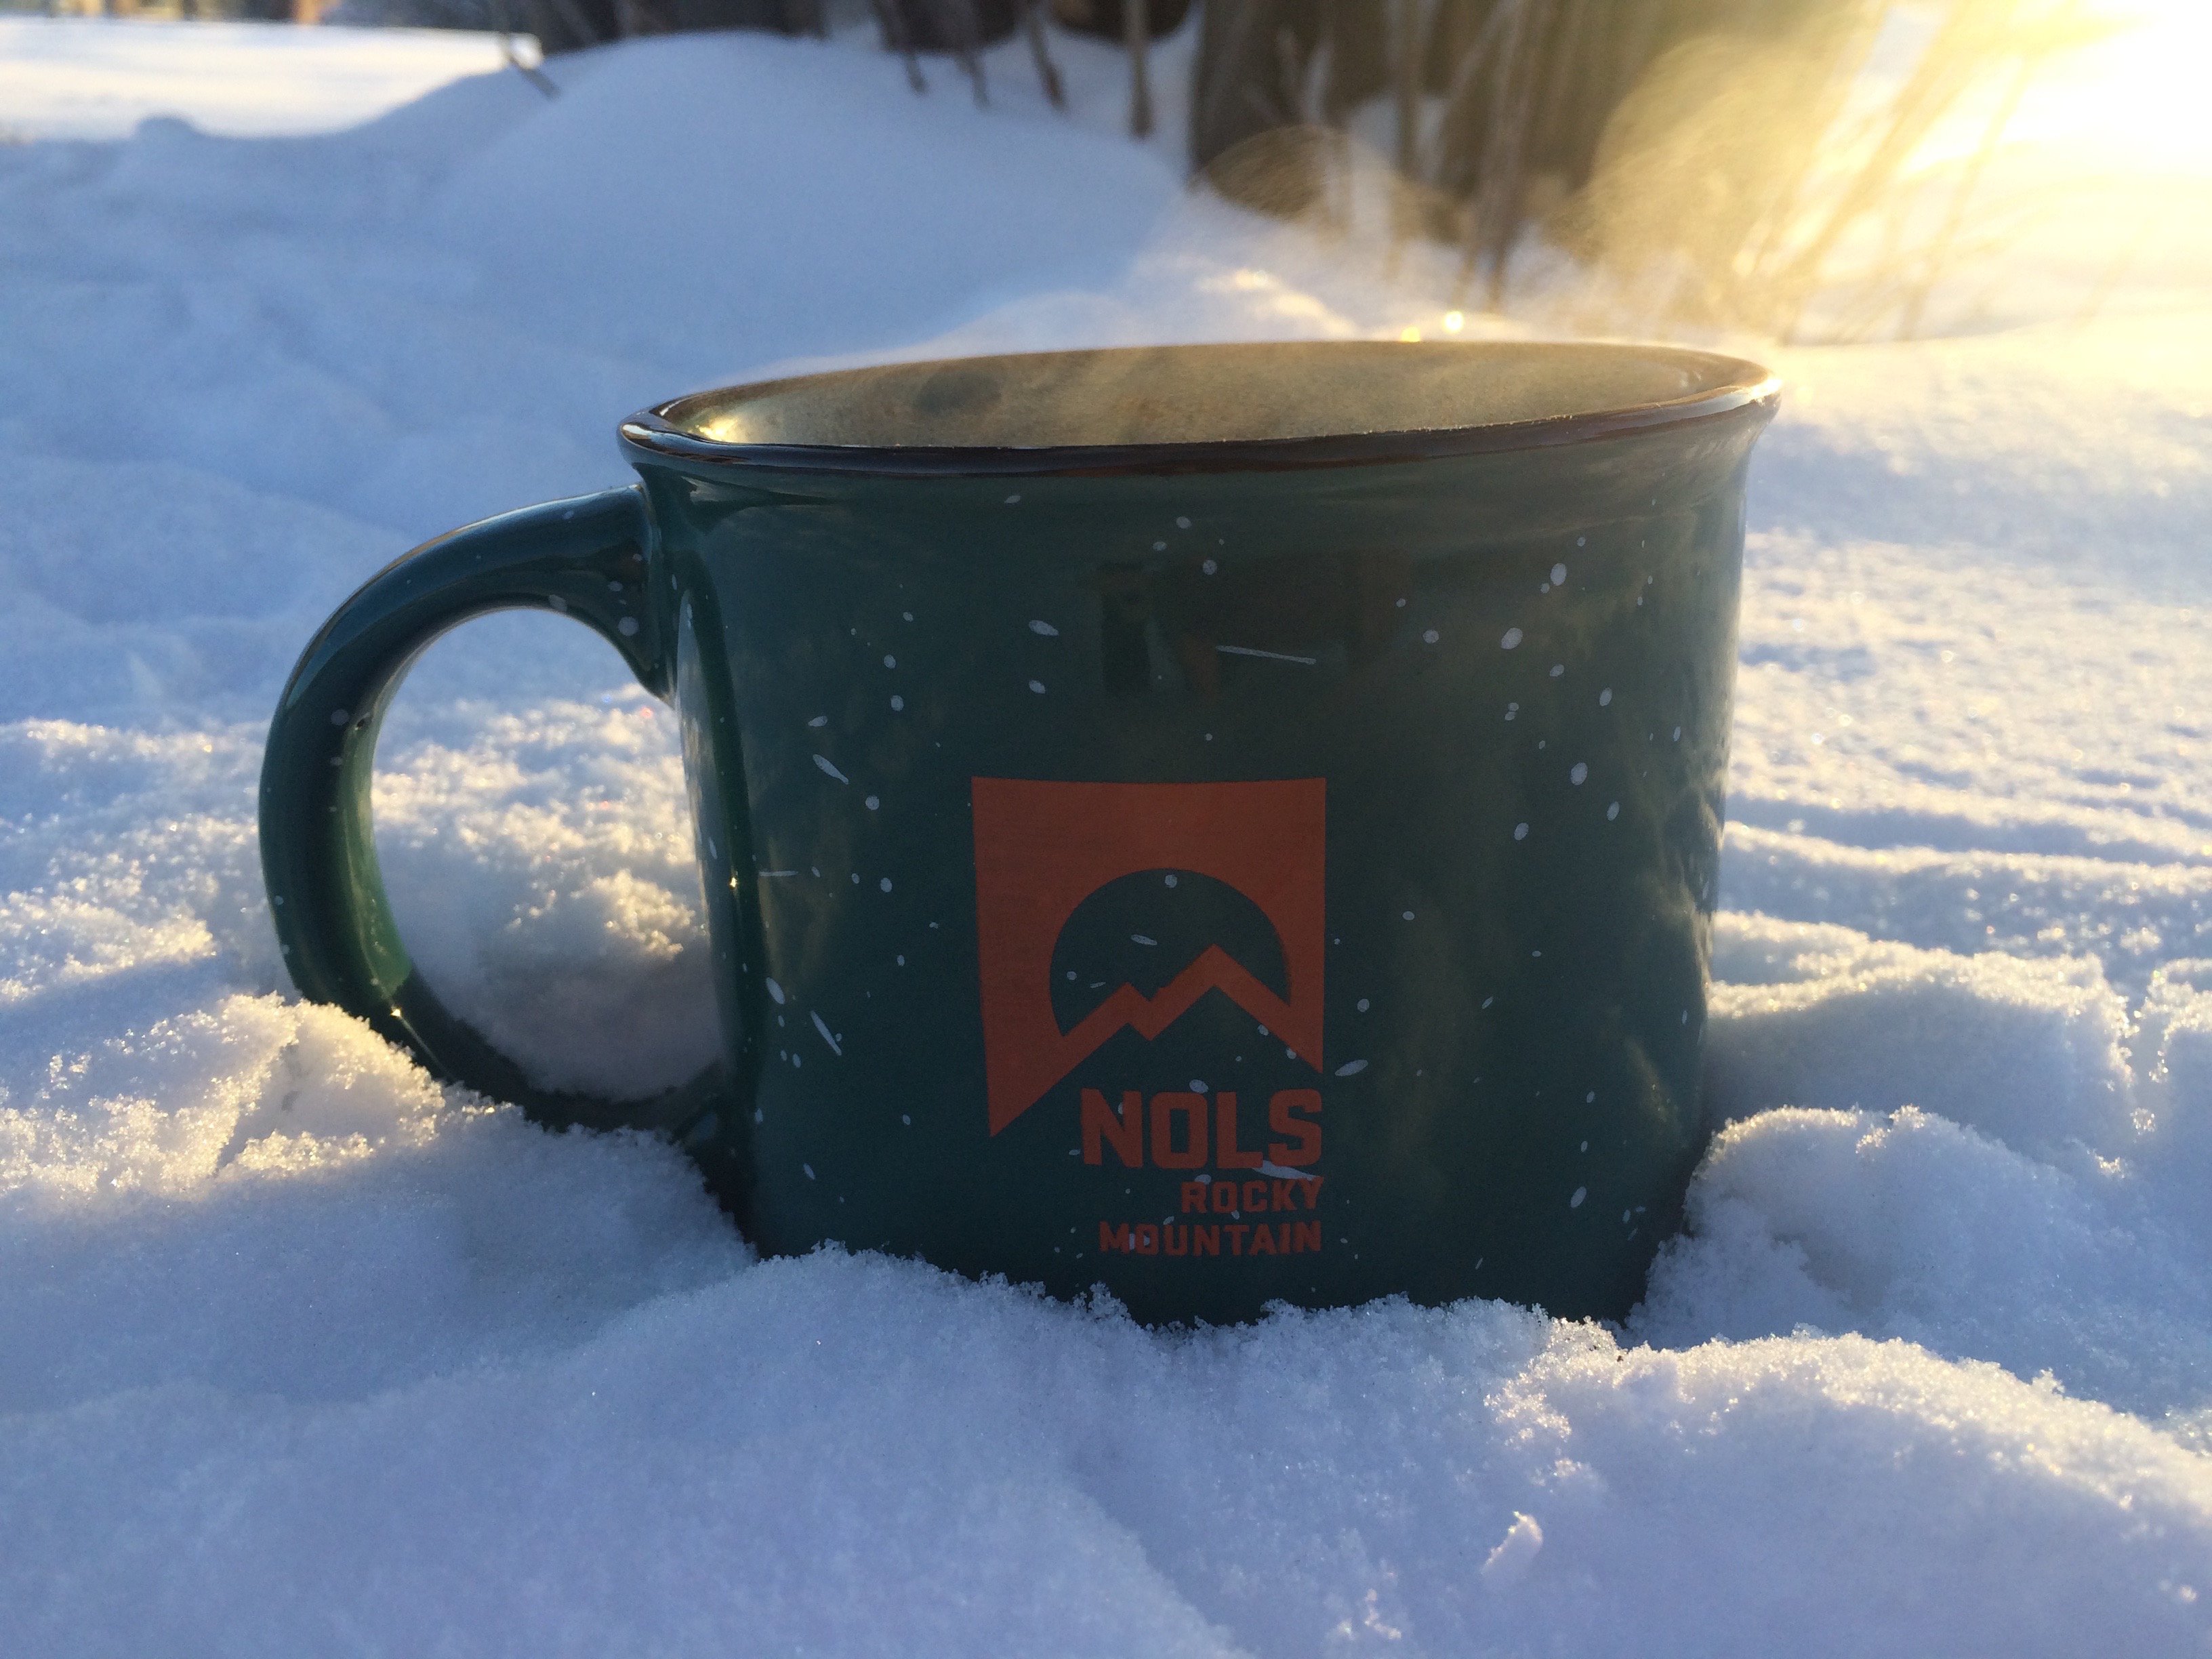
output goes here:
<path id="1" fill-rule="evenodd" d="M 1708 1137 L 1743 482 L 1774 378 L 1628 345 L 1199 345 L 679 398 L 307 646 L 261 774 L 299 989 L 686 1146 L 765 1252 L 1137 1318 L 1621 1316 Z M 575 617 L 675 703 L 723 1060 L 549 1095 L 376 872 L 416 653 Z"/>

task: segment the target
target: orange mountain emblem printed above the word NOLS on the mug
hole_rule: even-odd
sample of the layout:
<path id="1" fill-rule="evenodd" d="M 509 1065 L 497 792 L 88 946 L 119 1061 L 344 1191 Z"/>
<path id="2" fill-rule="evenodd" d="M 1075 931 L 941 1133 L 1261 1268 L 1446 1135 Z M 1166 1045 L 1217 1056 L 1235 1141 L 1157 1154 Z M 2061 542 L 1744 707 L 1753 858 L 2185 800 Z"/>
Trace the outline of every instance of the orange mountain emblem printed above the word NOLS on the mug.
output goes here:
<path id="1" fill-rule="evenodd" d="M 1124 1026 L 1148 1042 L 1221 991 L 1321 1071 L 1327 783 L 1033 783 L 975 779 L 975 931 L 991 1133 Z M 1144 995 L 1119 984 L 1071 1031 L 1053 1013 L 1053 947 L 1091 894 L 1188 869 L 1250 898 L 1283 947 L 1279 998 L 1219 945 Z"/>

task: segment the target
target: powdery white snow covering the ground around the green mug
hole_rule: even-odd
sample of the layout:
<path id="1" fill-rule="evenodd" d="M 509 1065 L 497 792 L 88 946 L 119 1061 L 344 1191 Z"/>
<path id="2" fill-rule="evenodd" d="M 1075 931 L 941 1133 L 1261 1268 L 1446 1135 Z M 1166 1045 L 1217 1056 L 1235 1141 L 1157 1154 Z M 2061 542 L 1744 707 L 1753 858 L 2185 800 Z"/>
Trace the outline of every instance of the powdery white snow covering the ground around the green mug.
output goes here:
<path id="1" fill-rule="evenodd" d="M 1079 42 L 1073 119 L 1018 49 L 978 111 L 852 42 L 635 42 L 555 100 L 434 44 L 0 22 L 0 1650 L 2203 1652 L 2199 243 L 2101 321 L 1772 352 L 1728 1128 L 1626 1327 L 1148 1334 L 757 1261 L 675 1150 L 301 1004 L 268 710 L 361 577 L 615 482 L 655 398 L 1394 336 L 1433 272 L 1186 192 Z M 471 624 L 380 759 L 456 1006 L 553 1084 L 706 1057 L 672 721 L 611 650 Z"/>

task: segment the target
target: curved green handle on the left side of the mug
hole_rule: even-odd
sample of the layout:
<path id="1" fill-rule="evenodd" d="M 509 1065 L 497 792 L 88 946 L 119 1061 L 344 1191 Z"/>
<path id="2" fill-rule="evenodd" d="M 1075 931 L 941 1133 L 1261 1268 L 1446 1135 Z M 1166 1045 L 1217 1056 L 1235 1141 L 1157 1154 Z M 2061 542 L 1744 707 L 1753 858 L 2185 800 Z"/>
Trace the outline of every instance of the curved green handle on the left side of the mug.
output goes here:
<path id="1" fill-rule="evenodd" d="M 487 611 L 575 617 L 666 701 L 670 668 L 646 586 L 650 566 L 653 518 L 639 484 L 425 542 L 369 577 L 307 641 L 261 761 L 261 878 L 301 995 L 365 1020 L 440 1079 L 557 1124 L 675 1130 L 714 1093 L 717 1075 L 710 1068 L 646 1102 L 538 1088 L 431 993 L 400 942 L 376 865 L 376 732 L 414 659 Z"/>

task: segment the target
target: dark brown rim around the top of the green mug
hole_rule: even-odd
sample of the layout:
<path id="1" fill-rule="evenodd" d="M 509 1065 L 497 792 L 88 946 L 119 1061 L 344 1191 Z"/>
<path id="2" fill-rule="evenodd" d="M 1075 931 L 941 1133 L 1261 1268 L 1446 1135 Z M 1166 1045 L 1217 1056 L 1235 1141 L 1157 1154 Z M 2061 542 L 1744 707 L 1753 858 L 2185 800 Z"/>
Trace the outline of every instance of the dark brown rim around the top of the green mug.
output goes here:
<path id="1" fill-rule="evenodd" d="M 1548 345 L 1537 341 L 1540 345 Z M 1323 341 L 1301 341 L 1305 347 L 1325 347 Z M 1480 352 L 1482 343 L 1467 345 L 1436 341 L 1444 349 Z M 1155 347 L 1119 347 L 1155 349 Z M 1635 352 L 1641 356 L 1694 358 L 1721 376 L 1721 385 L 1694 392 L 1683 398 L 1661 398 L 1657 403 L 1619 405 L 1613 409 L 1590 409 L 1579 414 L 1546 416 L 1540 420 L 1491 420 L 1473 427 L 1409 427 L 1394 431 L 1345 431 L 1307 438 L 1214 438 L 1214 440 L 1164 440 L 1139 445 L 779 445 L 779 442 L 717 442 L 692 436 L 675 427 L 666 411 L 701 396 L 723 396 L 726 392 L 757 392 L 770 385 L 790 385 L 814 376 L 779 376 L 776 380 L 754 380 L 726 392 L 686 394 L 668 398 L 650 409 L 641 409 L 617 427 L 624 445 L 641 449 L 661 460 L 690 460 L 710 467 L 748 467 L 761 471 L 799 473 L 849 473 L 863 478 L 1033 478 L 1055 473 L 1066 478 L 1095 478 L 1104 473 L 1225 473 L 1225 471 L 1294 471 L 1307 467 L 1369 467 L 1378 462 L 1442 460 L 1449 456 L 1491 456 L 1513 449 L 1551 449 L 1557 445 L 1588 442 L 1593 438 L 1617 438 L 1635 431 L 1701 425 L 1721 416 L 1732 416 L 1750 407 L 1767 414 L 1781 400 L 1781 376 L 1747 358 L 1723 356 L 1719 352 L 1692 352 L 1679 345 L 1628 345 L 1628 343 L 1557 343 L 1562 352 Z M 987 358 L 1048 356 L 1029 352 L 1000 352 Z M 936 367 L 962 358 L 938 358 L 929 363 L 885 363 L 858 369 L 825 369 L 825 374 L 865 374 L 867 367 Z"/>

